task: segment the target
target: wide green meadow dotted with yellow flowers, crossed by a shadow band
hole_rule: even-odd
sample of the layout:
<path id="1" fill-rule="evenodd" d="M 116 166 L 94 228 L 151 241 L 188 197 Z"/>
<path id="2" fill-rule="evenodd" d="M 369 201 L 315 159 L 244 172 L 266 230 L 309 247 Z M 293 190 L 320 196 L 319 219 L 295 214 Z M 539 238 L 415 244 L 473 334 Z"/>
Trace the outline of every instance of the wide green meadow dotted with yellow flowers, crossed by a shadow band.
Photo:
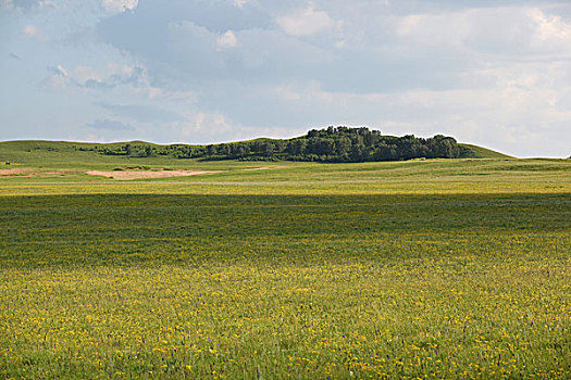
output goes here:
<path id="1" fill-rule="evenodd" d="M 0 144 L 2 378 L 571 378 L 571 160 L 23 144 Z M 159 169 L 213 173 L 86 174 Z"/>

